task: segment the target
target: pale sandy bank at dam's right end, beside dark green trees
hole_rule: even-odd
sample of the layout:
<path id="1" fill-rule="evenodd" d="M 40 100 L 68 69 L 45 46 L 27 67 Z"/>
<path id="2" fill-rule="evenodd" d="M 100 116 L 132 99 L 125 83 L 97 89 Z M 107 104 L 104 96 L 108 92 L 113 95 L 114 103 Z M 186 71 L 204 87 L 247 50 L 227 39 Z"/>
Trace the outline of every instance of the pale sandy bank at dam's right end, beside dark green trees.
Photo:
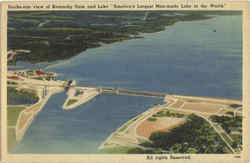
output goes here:
<path id="1" fill-rule="evenodd" d="M 187 115 L 190 114 L 195 114 L 199 117 L 202 118 L 208 118 L 211 115 L 217 115 L 217 112 L 220 112 L 222 108 L 218 109 L 216 112 L 213 112 L 213 110 L 211 110 L 211 113 L 207 113 L 204 111 L 196 111 L 196 109 L 194 108 L 193 110 L 191 109 L 174 109 L 172 108 L 179 100 L 187 100 L 186 103 L 191 103 L 188 102 L 189 100 L 198 100 L 198 101 L 202 101 L 202 103 L 200 102 L 192 102 L 193 104 L 214 104 L 214 105 L 222 105 L 224 104 L 225 106 L 229 107 L 232 104 L 235 104 L 235 102 L 237 102 L 237 104 L 242 105 L 242 101 L 235 101 L 235 100 L 230 100 L 230 99 L 217 99 L 217 98 L 206 98 L 206 97 L 194 97 L 194 96 L 181 96 L 181 95 L 166 95 L 164 98 L 164 104 L 158 104 L 156 106 L 153 106 L 152 108 L 149 108 L 148 110 L 138 114 L 137 116 L 133 117 L 132 119 L 129 119 L 127 122 L 125 122 L 124 124 L 122 124 L 120 127 L 118 127 L 117 129 L 114 130 L 114 132 L 112 132 L 105 140 L 103 143 L 101 143 L 101 145 L 98 147 L 98 150 L 102 151 L 102 150 L 108 150 L 108 149 L 114 149 L 116 147 L 141 147 L 144 148 L 142 146 L 140 146 L 138 139 L 141 140 L 146 140 L 144 137 L 141 137 L 137 134 L 137 128 L 145 121 L 148 120 L 148 118 L 152 117 L 152 115 L 156 114 L 157 112 L 160 112 L 162 110 L 165 110 L 166 108 L 168 110 L 172 110 L 174 112 L 179 112 L 179 113 L 184 113 Z M 223 105 L 223 106 L 224 106 Z M 179 106 L 180 108 L 182 108 L 184 106 L 181 105 Z M 223 107 L 223 109 L 225 109 L 225 112 L 229 110 L 229 108 Z M 242 106 L 240 107 L 242 108 Z M 242 111 L 239 111 L 238 109 L 233 109 L 230 108 L 232 111 L 235 110 L 236 112 L 240 112 L 241 116 L 242 116 Z M 208 110 L 210 110 L 208 108 Z M 218 114 L 219 115 L 219 114 Z M 220 115 L 226 115 L 226 113 L 221 113 Z M 120 140 L 119 140 L 120 139 Z"/>

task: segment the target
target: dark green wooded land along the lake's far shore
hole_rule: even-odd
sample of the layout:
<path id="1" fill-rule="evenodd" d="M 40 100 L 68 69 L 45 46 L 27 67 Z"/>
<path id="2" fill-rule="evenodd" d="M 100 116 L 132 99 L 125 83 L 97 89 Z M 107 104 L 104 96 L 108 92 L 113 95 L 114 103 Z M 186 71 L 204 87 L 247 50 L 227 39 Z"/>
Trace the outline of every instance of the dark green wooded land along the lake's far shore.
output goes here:
<path id="1" fill-rule="evenodd" d="M 30 63 L 68 59 L 80 52 L 165 30 L 178 21 L 238 15 L 230 11 L 9 11 L 8 50 L 24 49 L 17 60 Z"/>

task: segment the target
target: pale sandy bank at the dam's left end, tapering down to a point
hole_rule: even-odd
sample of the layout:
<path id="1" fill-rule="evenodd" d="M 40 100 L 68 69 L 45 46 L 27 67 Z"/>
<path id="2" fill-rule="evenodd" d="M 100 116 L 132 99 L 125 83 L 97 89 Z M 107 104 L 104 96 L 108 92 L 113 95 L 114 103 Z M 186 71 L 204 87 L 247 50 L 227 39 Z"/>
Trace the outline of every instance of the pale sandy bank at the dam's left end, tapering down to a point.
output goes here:
<path id="1" fill-rule="evenodd" d="M 37 76 L 35 76 L 33 72 L 32 75 L 30 74 L 29 76 L 27 72 L 29 72 L 29 70 L 19 70 L 17 72 L 8 71 L 7 75 L 8 78 L 7 87 L 13 87 L 17 90 L 25 90 L 25 89 L 32 90 L 34 92 L 34 96 L 38 98 L 37 102 L 31 105 L 27 104 L 7 105 L 8 107 L 12 108 L 23 107 L 23 110 L 20 111 L 16 117 L 7 117 L 7 119 L 15 118 L 14 120 L 16 121 L 15 125 L 8 126 L 8 128 L 12 129 L 11 132 L 12 139 L 8 140 L 9 141 L 8 143 L 12 145 L 22 140 L 23 136 L 25 135 L 26 131 L 32 124 L 33 120 L 36 118 L 39 112 L 44 108 L 44 105 L 46 105 L 50 97 L 53 94 L 64 91 L 63 85 L 66 84 L 65 81 L 59 81 L 59 80 L 52 81 L 52 80 L 34 79 Z M 10 130 L 8 130 L 8 134 L 9 132 Z"/>

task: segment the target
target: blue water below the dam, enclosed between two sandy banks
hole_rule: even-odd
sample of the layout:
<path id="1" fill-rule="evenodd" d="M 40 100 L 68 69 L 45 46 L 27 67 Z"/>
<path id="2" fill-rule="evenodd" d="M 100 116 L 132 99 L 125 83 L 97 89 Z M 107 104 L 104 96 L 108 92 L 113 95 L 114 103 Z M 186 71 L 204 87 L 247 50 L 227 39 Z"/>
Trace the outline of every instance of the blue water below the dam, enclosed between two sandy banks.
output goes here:
<path id="1" fill-rule="evenodd" d="M 11 153 L 98 153 L 119 126 L 162 103 L 139 96 L 100 95 L 73 110 L 62 110 L 65 93 L 52 96 Z"/>

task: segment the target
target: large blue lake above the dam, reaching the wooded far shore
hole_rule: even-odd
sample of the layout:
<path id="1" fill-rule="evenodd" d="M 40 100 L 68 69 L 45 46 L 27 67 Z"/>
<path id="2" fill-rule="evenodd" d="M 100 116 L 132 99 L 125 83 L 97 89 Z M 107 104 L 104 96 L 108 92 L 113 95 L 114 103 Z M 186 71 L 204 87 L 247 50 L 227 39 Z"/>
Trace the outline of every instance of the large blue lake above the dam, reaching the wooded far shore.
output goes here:
<path id="1" fill-rule="evenodd" d="M 240 99 L 241 24 L 241 16 L 181 22 L 143 39 L 89 49 L 47 71 L 79 85 Z"/>

